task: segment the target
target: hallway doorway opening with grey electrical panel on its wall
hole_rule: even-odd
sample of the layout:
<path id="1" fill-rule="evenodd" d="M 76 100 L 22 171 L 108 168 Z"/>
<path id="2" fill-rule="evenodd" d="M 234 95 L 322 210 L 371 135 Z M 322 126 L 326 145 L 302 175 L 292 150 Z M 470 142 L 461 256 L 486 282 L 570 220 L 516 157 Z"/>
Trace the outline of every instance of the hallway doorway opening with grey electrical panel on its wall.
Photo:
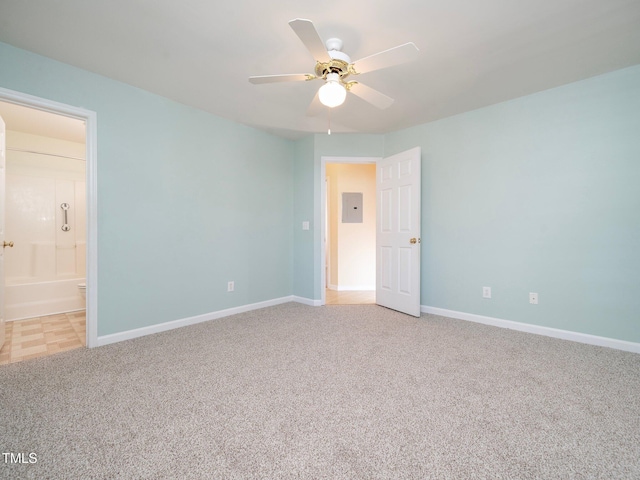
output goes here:
<path id="1" fill-rule="evenodd" d="M 327 305 L 376 303 L 376 159 L 323 158 Z M 347 205 L 350 199 L 356 204 Z M 347 211 L 356 213 L 346 218 Z"/>

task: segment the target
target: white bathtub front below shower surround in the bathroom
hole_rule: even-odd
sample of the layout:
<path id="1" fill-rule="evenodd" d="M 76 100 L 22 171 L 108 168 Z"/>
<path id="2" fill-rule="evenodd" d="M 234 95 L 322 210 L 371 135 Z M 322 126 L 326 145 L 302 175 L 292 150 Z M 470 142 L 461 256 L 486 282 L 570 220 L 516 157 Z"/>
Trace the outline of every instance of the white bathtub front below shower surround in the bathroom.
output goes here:
<path id="1" fill-rule="evenodd" d="M 85 299 L 78 290 L 84 278 L 28 282 L 5 281 L 4 315 L 7 321 L 41 317 L 85 309 Z"/>

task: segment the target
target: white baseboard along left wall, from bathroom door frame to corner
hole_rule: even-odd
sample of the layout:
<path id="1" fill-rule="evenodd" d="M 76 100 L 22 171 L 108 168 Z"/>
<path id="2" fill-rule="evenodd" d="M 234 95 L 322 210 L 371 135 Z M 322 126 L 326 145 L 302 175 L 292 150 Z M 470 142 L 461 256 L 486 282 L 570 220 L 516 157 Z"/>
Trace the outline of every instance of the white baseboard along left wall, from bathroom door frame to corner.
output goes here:
<path id="1" fill-rule="evenodd" d="M 145 335 L 151 335 L 153 333 L 166 332 L 167 330 L 173 330 L 174 328 L 186 327 L 188 325 L 195 325 L 196 323 L 208 322 L 209 320 L 215 320 L 222 317 L 228 317 L 229 315 L 235 315 L 237 313 L 249 312 L 251 310 L 257 310 L 259 308 L 271 307 L 273 305 L 280 305 L 281 303 L 288 303 L 292 301 L 298 301 L 293 295 L 288 297 L 275 298 L 273 300 L 266 300 L 264 302 L 251 303 L 249 305 L 241 305 L 239 307 L 227 308 L 226 310 L 218 310 L 217 312 L 205 313 L 203 315 L 196 315 L 195 317 L 182 318 L 180 320 L 173 320 L 170 322 L 160 323 L 158 325 L 150 325 L 148 327 L 136 328 L 134 330 L 127 330 L 126 332 L 113 333 L 110 335 L 102 335 L 98 337 L 96 346 L 101 347 L 103 345 L 109 345 L 111 343 L 122 342 L 124 340 L 131 340 L 133 338 L 144 337 Z M 301 302 L 304 303 L 304 302 Z"/>

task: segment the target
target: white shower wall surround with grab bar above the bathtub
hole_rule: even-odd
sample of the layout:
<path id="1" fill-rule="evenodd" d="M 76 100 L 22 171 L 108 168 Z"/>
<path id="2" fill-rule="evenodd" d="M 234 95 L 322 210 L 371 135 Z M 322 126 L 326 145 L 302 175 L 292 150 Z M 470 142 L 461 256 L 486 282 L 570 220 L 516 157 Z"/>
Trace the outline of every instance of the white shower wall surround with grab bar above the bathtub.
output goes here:
<path id="1" fill-rule="evenodd" d="M 7 285 L 85 276 L 83 157 L 84 144 L 7 131 Z"/>

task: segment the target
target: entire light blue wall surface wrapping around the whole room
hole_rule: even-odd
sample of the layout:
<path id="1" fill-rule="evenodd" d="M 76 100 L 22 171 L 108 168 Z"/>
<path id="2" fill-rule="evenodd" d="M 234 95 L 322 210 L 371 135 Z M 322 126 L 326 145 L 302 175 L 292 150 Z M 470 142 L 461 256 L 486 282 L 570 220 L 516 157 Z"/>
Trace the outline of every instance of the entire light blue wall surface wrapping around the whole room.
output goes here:
<path id="1" fill-rule="evenodd" d="M 322 156 L 420 146 L 423 305 L 640 342 L 640 66 L 292 142 L 5 44 L 0 65 L 2 87 L 97 112 L 99 335 L 321 298 Z"/>

